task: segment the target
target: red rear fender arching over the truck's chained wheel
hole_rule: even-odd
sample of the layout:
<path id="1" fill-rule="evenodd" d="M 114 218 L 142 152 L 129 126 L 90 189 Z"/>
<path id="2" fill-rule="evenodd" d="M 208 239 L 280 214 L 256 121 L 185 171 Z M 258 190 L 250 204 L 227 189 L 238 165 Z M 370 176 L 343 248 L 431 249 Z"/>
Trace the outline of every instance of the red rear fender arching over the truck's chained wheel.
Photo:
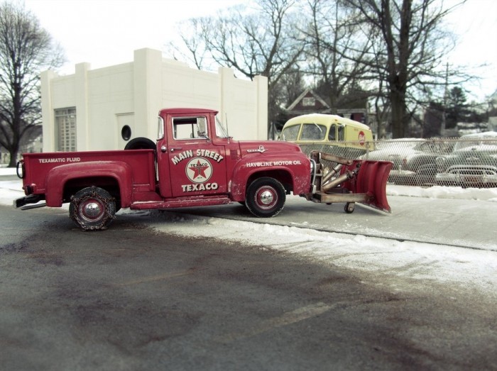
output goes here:
<path id="1" fill-rule="evenodd" d="M 45 180 L 47 206 L 62 206 L 65 184 L 73 179 L 87 177 L 112 177 L 119 184 L 121 205 L 131 204 L 131 167 L 122 161 L 77 162 L 54 167 Z M 96 184 L 97 185 L 97 184 Z"/>

